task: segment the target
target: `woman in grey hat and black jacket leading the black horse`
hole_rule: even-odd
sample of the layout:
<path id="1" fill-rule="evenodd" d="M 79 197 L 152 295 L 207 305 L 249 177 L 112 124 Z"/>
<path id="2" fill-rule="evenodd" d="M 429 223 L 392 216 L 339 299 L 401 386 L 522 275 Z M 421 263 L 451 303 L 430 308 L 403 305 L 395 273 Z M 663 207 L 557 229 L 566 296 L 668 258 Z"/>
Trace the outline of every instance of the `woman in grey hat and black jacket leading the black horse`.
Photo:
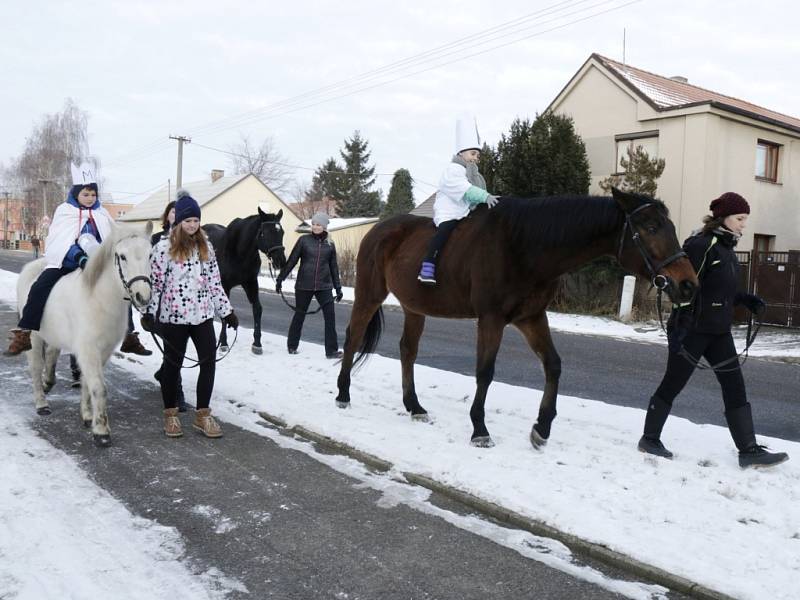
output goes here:
<path id="1" fill-rule="evenodd" d="M 336 312 L 333 309 L 333 291 L 336 302 L 342 299 L 342 284 L 339 281 L 339 264 L 336 262 L 336 247 L 328 239 L 328 215 L 317 213 L 311 218 L 311 234 L 297 240 L 286 266 L 275 281 L 275 291 L 281 291 L 283 280 L 292 272 L 297 261 L 300 269 L 294 284 L 295 312 L 286 346 L 289 354 L 297 354 L 300 333 L 311 299 L 316 298 L 325 317 L 325 356 L 341 358 L 339 338 L 336 335 Z"/>

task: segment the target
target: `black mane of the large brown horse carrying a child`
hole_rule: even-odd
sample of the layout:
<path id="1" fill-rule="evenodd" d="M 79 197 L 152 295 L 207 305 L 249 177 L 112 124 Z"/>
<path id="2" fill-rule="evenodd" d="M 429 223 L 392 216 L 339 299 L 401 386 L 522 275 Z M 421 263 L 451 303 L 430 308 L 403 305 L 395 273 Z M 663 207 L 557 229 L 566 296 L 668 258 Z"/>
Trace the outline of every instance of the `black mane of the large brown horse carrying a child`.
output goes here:
<path id="1" fill-rule="evenodd" d="M 660 200 L 636 196 L 642 203 L 651 202 L 668 215 L 666 205 Z M 507 230 L 515 248 L 545 250 L 583 247 L 620 228 L 625 214 L 610 196 L 504 196 L 487 218 L 487 223 L 498 222 Z"/>

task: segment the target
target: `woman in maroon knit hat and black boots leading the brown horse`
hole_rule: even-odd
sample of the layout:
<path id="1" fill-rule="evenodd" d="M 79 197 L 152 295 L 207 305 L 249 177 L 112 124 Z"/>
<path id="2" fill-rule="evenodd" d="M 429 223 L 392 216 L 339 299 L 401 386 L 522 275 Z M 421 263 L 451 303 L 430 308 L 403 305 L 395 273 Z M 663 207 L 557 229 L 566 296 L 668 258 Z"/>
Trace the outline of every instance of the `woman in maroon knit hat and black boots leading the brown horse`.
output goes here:
<path id="1" fill-rule="evenodd" d="M 736 290 L 739 261 L 734 247 L 747 223 L 750 206 L 739 194 L 726 192 L 709 208 L 712 214 L 705 217 L 702 231 L 683 245 L 700 280 L 700 291 L 692 302 L 673 307 L 667 323 L 667 371 L 650 399 L 639 450 L 672 458 L 661 443 L 661 430 L 672 401 L 689 381 L 696 362 L 705 357 L 716 366 L 714 373 L 722 388 L 725 419 L 739 449 L 739 466 L 769 467 L 789 457 L 785 452 L 768 452 L 756 442 L 753 415 L 731 335 L 734 306 L 743 304 L 756 314 L 766 308 L 758 296 Z"/>

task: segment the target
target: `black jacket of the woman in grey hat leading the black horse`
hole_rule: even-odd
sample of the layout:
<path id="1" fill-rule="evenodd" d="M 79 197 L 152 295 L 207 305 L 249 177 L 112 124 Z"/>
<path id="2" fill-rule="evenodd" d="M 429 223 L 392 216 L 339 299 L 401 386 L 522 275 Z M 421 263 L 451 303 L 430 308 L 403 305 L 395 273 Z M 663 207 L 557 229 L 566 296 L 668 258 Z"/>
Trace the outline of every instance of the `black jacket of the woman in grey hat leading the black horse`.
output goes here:
<path id="1" fill-rule="evenodd" d="M 283 281 L 292 272 L 297 261 L 300 269 L 294 288 L 296 290 L 330 290 L 342 287 L 339 281 L 339 264 L 336 262 L 336 246 L 328 239 L 328 233 L 320 236 L 307 234 L 297 240 L 286 266 L 278 278 Z"/>

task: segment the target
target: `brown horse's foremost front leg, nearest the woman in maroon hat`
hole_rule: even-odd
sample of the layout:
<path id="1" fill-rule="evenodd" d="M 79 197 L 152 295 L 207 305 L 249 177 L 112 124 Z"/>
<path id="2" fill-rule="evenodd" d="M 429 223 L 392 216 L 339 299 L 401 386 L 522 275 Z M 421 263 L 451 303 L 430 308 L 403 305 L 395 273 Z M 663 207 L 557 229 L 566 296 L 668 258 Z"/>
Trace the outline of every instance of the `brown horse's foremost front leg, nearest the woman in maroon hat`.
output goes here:
<path id="1" fill-rule="evenodd" d="M 550 337 L 550 326 L 547 314 L 514 323 L 525 336 L 528 345 L 542 361 L 544 367 L 544 393 L 539 404 L 539 417 L 531 427 L 531 444 L 540 448 L 550 437 L 550 427 L 556 418 L 556 399 L 558 398 L 558 380 L 561 377 L 561 357 L 556 352 Z"/>

